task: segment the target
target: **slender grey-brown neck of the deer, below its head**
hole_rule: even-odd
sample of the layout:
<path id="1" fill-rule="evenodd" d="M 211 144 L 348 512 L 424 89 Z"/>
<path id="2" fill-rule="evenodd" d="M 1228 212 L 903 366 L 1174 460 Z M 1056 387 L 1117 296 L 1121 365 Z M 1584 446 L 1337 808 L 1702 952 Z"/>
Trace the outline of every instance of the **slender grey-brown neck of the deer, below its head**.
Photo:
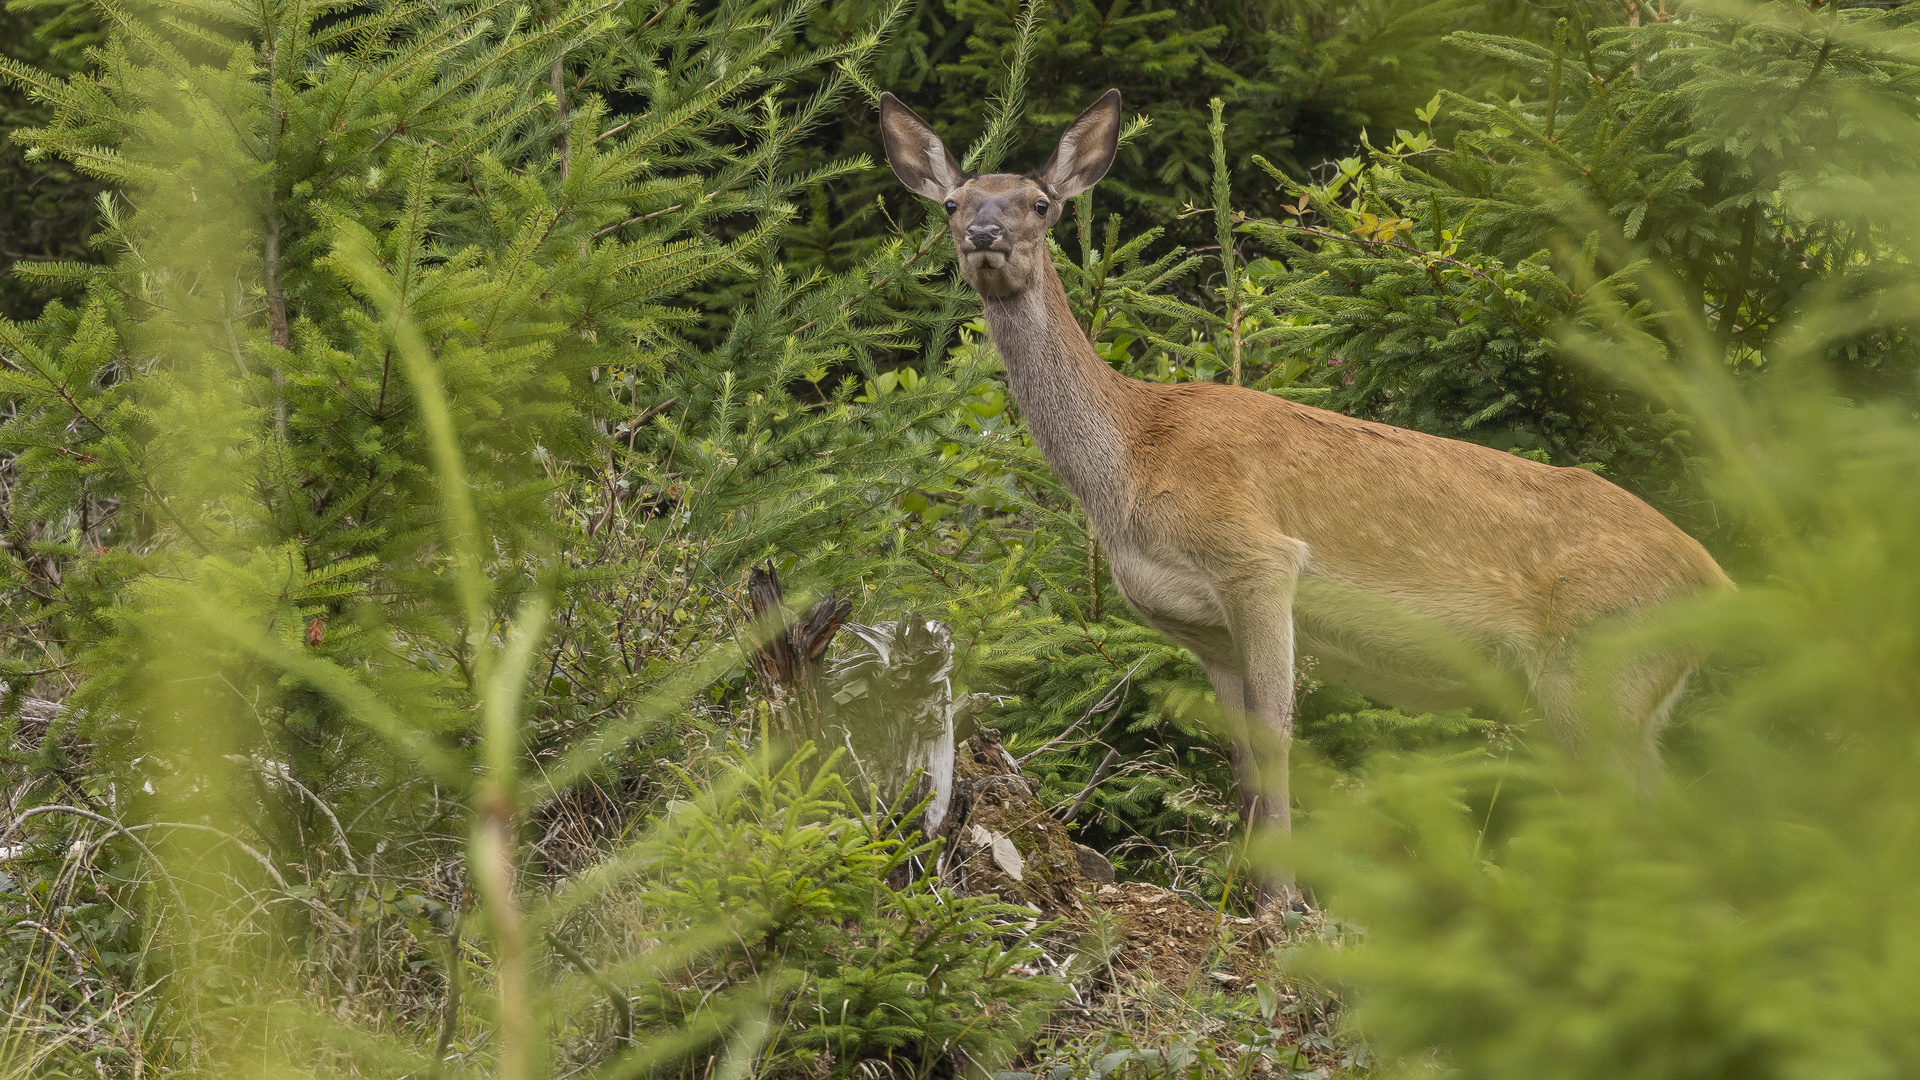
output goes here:
<path id="1" fill-rule="evenodd" d="M 1131 379 L 1092 352 L 1052 267 L 1037 286 L 983 302 L 1033 442 L 1096 528 L 1117 521 L 1127 503 L 1123 402 Z"/>

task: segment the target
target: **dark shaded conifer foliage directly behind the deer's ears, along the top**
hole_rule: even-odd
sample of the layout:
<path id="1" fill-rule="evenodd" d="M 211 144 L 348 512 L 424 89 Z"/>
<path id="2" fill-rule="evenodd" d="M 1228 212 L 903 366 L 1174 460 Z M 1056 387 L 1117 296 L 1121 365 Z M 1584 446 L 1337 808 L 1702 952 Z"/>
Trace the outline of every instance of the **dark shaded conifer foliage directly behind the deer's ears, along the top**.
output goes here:
<path id="1" fill-rule="evenodd" d="M 1021 29 L 1025 15 L 1033 15 L 1031 31 Z M 1281 192 L 1258 183 L 1252 154 L 1306 175 L 1321 160 L 1346 154 L 1361 129 L 1411 125 L 1411 106 L 1440 86 L 1505 85 L 1498 65 L 1442 44 L 1448 31 L 1494 27 L 1536 38 L 1549 33 L 1528 6 L 1455 0 L 947 0 L 918 6 L 912 29 L 876 63 L 876 73 L 948 133 L 948 144 L 966 144 L 987 131 L 981 102 L 1010 90 L 1012 60 L 1025 35 L 1031 61 L 1020 69 L 1014 96 L 1025 94 L 1031 108 L 1004 156 L 996 156 L 1016 171 L 1035 167 L 1054 131 L 1108 88 L 1119 88 L 1127 110 L 1152 123 L 1119 156 L 1102 190 L 1117 200 L 1127 233 L 1139 234 L 1169 227 L 1183 206 L 1208 204 L 1208 98 L 1219 96 L 1233 110 L 1231 169 L 1252 208 L 1271 215 Z M 879 158 L 872 121 L 849 123 L 837 135 L 843 152 Z M 858 229 L 852 215 L 876 194 L 918 219 L 924 208 L 887 184 L 887 177 L 874 177 L 843 196 L 839 215 L 849 227 Z M 1206 242 L 1204 229 L 1171 229 L 1183 242 Z"/>

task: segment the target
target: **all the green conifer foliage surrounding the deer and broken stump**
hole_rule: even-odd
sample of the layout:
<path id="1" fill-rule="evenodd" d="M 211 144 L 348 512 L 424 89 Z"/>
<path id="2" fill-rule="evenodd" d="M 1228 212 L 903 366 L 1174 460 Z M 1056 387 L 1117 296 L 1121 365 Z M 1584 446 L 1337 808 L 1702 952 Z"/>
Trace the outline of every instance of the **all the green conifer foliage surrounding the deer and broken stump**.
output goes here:
<path id="1" fill-rule="evenodd" d="M 6 728 L 6 1067 L 996 1065 L 1058 988 L 1027 915 L 710 751 L 764 557 L 952 625 L 1048 803 L 1121 763 L 1083 840 L 1244 903 L 1204 678 L 858 160 L 881 86 L 1027 163 L 1119 85 L 1056 248 L 1108 363 L 1597 467 L 1757 567 L 1663 630 L 1743 667 L 1651 796 L 1306 671 L 1302 865 L 1367 944 L 1302 970 L 1476 1074 L 1907 1068 L 1912 17 L 1507 15 L 200 4 L 10 61 L 23 146 L 119 194 L 0 323 L 0 678 L 69 705 Z M 1304 1067 L 1208 1009 L 1252 1049 L 1068 1059 Z"/>

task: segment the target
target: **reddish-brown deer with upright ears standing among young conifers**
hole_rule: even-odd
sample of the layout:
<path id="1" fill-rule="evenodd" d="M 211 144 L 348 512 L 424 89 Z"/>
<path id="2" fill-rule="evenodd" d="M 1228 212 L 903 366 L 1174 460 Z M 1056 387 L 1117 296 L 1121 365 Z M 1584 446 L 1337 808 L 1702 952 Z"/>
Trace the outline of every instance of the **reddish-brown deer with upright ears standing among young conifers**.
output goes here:
<path id="1" fill-rule="evenodd" d="M 1020 417 L 1079 500 L 1114 586 L 1206 671 L 1248 826 L 1290 828 L 1306 661 L 1317 678 L 1413 711 L 1484 703 L 1486 682 L 1467 671 L 1482 665 L 1526 686 L 1576 744 L 1597 694 L 1657 767 L 1659 732 L 1701 657 L 1653 650 L 1601 680 L 1576 644 L 1605 621 L 1730 588 L 1699 542 L 1588 469 L 1110 367 L 1073 317 L 1046 236 L 1112 167 L 1119 90 L 1025 175 L 968 173 L 893 94 L 879 98 L 879 127 L 893 173 L 947 213 Z"/>

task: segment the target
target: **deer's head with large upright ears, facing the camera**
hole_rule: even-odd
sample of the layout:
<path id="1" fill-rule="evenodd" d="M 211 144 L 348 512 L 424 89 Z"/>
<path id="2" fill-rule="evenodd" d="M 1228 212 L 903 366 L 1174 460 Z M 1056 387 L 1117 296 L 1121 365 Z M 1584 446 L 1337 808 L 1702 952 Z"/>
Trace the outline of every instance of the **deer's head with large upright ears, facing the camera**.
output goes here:
<path id="1" fill-rule="evenodd" d="M 893 175 L 941 204 L 960 254 L 960 277 L 981 296 L 1006 300 L 1052 267 L 1046 231 L 1066 202 L 1100 183 L 1119 146 L 1119 90 L 1108 90 L 1068 127 L 1039 171 L 968 175 L 927 121 L 893 94 L 879 96 L 879 131 Z"/>

